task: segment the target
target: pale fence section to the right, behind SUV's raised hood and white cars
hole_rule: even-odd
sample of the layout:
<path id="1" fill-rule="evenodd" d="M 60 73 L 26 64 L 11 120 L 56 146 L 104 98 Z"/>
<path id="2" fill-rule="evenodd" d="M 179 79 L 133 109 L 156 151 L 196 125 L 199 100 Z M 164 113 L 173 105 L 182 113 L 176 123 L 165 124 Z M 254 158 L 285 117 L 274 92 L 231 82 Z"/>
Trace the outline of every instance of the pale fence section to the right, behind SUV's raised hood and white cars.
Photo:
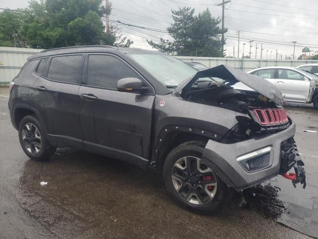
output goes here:
<path id="1" fill-rule="evenodd" d="M 303 64 L 318 63 L 318 60 L 280 60 L 280 59 L 240 59 L 240 58 L 219 58 L 219 57 L 191 57 L 177 56 L 178 59 L 186 62 L 199 62 L 207 67 L 228 65 L 242 71 L 249 71 L 266 66 L 300 66 Z"/>

